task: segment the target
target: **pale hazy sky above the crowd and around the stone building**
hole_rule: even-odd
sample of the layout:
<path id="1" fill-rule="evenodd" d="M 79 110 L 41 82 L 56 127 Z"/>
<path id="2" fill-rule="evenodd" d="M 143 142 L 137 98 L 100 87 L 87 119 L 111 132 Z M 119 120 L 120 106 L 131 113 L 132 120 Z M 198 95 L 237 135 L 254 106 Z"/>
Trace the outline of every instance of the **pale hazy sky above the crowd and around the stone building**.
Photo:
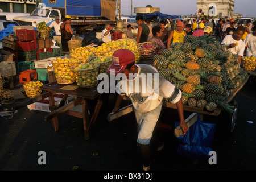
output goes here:
<path id="1" fill-rule="evenodd" d="M 134 7 L 159 7 L 160 12 L 169 15 L 195 15 L 197 11 L 197 0 L 131 0 Z M 131 14 L 131 1 L 121 0 L 121 14 Z M 256 0 L 233 0 L 234 13 L 240 13 L 243 17 L 256 17 Z M 135 15 L 135 14 L 133 14 Z"/>

